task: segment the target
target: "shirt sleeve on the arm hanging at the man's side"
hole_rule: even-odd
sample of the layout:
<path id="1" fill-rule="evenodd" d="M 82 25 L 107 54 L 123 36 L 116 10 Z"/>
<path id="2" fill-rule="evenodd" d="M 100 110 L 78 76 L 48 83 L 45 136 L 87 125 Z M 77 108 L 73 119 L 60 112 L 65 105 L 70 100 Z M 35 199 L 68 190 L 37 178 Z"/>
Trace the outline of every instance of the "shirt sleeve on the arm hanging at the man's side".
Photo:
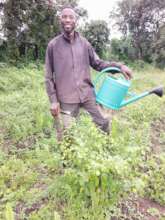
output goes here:
<path id="1" fill-rule="evenodd" d="M 45 86 L 51 103 L 57 102 L 56 85 L 53 77 L 53 53 L 51 44 L 48 44 L 45 57 Z"/>

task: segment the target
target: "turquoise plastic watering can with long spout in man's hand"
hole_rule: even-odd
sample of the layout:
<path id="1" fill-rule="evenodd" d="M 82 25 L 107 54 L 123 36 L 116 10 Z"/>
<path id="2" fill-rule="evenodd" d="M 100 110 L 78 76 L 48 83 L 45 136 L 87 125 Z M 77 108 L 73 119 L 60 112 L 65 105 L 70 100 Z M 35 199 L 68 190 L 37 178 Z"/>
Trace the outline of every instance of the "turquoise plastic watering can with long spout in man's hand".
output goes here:
<path id="1" fill-rule="evenodd" d="M 133 103 L 150 94 L 156 94 L 159 97 L 163 96 L 163 87 L 159 86 L 150 91 L 136 95 L 128 90 L 131 86 L 131 81 L 122 77 L 111 76 L 107 73 L 121 73 L 117 67 L 108 67 L 103 69 L 94 81 L 96 102 L 103 106 L 118 110 L 123 106 Z M 99 87 L 96 89 L 96 87 Z M 126 96 L 131 98 L 126 99 Z"/>

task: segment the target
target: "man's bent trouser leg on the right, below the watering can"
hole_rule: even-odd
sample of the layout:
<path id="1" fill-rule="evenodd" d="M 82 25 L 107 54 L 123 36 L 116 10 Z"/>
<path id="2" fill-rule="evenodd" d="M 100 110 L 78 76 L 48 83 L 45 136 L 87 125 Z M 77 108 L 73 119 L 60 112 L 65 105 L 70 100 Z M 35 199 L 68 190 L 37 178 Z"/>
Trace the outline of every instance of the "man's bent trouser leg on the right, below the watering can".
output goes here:
<path id="1" fill-rule="evenodd" d="M 88 100 L 82 105 L 89 112 L 93 121 L 106 133 L 109 133 L 109 120 L 104 118 L 98 109 L 95 99 Z"/>

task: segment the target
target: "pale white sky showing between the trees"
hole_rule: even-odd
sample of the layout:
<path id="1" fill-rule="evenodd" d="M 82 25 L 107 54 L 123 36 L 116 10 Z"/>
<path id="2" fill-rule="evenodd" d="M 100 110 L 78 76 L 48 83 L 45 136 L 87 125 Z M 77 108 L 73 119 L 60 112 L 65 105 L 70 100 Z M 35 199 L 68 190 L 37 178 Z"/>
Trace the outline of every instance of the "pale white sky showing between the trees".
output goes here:
<path id="1" fill-rule="evenodd" d="M 105 20 L 109 23 L 109 13 L 116 6 L 119 0 L 79 0 L 79 5 L 88 11 L 88 19 Z M 120 38 L 121 34 L 117 29 L 111 29 L 111 37 Z"/>

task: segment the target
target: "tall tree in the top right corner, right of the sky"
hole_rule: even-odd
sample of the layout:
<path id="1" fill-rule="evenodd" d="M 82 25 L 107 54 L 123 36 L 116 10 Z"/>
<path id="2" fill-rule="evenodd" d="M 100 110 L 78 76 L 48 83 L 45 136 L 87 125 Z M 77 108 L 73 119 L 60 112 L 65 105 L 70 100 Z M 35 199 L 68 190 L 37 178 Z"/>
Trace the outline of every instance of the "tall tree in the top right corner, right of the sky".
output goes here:
<path id="1" fill-rule="evenodd" d="M 151 44 L 165 19 L 165 1 L 122 0 L 110 17 L 116 19 L 124 36 L 131 35 L 137 58 L 150 61 Z"/>

